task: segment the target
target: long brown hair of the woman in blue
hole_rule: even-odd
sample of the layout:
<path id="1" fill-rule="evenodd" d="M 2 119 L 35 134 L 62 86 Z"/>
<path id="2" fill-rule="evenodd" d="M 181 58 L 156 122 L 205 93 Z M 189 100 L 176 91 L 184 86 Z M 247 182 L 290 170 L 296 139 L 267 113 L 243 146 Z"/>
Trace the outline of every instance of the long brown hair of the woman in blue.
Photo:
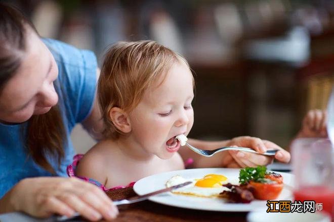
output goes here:
<path id="1" fill-rule="evenodd" d="M 22 63 L 27 29 L 36 32 L 19 10 L 0 3 L 0 95 Z M 28 120 L 27 128 L 23 130 L 26 130 L 25 144 L 29 155 L 42 168 L 55 174 L 47 156 L 56 158 L 59 167 L 64 157 L 63 146 L 66 140 L 58 105 L 46 114 L 32 116 Z"/>

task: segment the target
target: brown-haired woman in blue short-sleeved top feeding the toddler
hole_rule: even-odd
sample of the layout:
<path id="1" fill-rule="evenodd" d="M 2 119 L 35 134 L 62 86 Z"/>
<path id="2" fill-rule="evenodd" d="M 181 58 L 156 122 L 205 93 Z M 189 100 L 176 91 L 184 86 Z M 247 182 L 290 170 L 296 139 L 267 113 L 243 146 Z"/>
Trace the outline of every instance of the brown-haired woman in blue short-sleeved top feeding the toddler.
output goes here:
<path id="1" fill-rule="evenodd" d="M 95 55 L 65 43 L 41 39 L 21 13 L 0 4 L 0 213 L 24 211 L 47 217 L 71 216 L 112 219 L 117 208 L 98 187 L 66 177 L 74 151 L 70 132 L 81 123 L 96 139 L 103 127 L 95 102 Z M 253 137 L 228 141 L 191 140 L 197 147 L 252 147 L 264 152 L 277 145 Z M 281 148 L 279 148 L 281 149 Z M 183 157 L 193 157 L 188 149 Z M 281 149 L 275 156 L 287 162 Z M 223 167 L 268 164 L 271 158 L 242 152 L 222 152 Z"/>

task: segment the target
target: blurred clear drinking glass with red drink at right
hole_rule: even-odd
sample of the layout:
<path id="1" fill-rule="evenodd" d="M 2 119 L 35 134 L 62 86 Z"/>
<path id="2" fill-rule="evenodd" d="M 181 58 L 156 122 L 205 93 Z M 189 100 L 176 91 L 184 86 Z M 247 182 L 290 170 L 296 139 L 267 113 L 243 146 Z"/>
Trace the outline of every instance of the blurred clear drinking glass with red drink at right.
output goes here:
<path id="1" fill-rule="evenodd" d="M 334 218 L 334 154 L 329 139 L 299 138 L 291 144 L 294 199 L 322 203 Z"/>

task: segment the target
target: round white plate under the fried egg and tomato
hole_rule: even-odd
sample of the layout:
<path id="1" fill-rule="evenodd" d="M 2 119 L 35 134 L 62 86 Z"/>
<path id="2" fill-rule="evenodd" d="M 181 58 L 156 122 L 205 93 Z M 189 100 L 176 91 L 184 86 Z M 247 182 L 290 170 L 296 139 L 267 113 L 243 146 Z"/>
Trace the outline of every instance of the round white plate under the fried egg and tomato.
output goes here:
<path id="1" fill-rule="evenodd" d="M 200 168 L 181 171 L 171 171 L 161 174 L 145 177 L 136 182 L 134 191 L 138 195 L 147 194 L 156 190 L 165 188 L 165 183 L 172 176 L 181 175 L 185 179 L 202 178 L 207 174 L 221 174 L 226 176 L 230 181 L 238 181 L 240 169 L 227 168 Z M 283 176 L 284 184 L 293 187 L 294 176 L 287 173 L 279 173 Z M 283 187 L 283 190 L 277 200 L 291 200 L 292 192 Z M 256 209 L 267 209 L 267 201 L 254 200 L 251 203 L 226 203 L 222 198 L 202 198 L 191 197 L 184 195 L 177 195 L 171 192 L 152 196 L 149 200 L 170 206 L 199 209 L 199 210 L 213 210 L 213 211 L 251 211 Z"/>

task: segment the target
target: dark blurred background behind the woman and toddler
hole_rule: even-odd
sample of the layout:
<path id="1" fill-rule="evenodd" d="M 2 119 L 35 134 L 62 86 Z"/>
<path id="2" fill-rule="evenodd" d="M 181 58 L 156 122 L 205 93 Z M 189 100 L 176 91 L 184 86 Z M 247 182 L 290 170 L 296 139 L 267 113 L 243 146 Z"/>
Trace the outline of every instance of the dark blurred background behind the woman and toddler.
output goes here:
<path id="1" fill-rule="evenodd" d="M 180 52 L 195 74 L 190 137 L 250 135 L 282 147 L 307 110 L 326 108 L 334 83 L 331 0 L 22 0 L 39 34 L 93 50 L 152 39 Z M 77 152 L 95 142 L 77 126 Z"/>

